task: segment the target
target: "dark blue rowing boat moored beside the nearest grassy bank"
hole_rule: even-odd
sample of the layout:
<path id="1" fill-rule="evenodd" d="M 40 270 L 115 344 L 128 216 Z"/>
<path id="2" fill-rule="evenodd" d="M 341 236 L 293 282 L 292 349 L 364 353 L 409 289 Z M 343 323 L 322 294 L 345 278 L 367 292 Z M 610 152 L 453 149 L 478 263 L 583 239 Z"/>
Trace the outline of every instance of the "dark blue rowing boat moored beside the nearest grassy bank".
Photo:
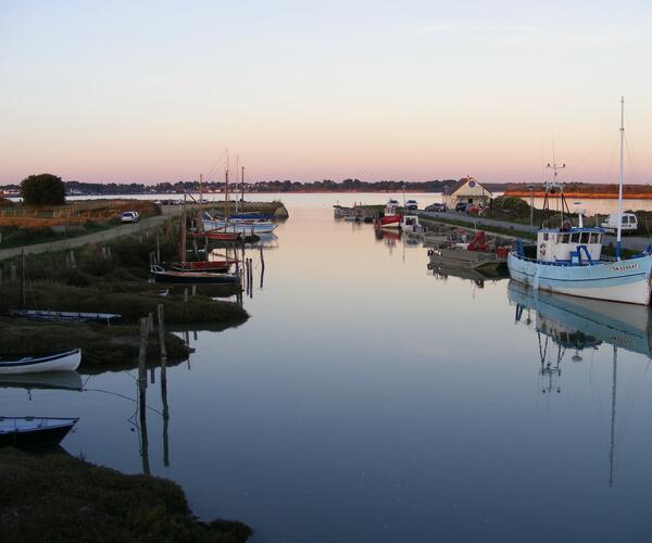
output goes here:
<path id="1" fill-rule="evenodd" d="M 55 446 L 79 418 L 0 417 L 0 446 Z"/>

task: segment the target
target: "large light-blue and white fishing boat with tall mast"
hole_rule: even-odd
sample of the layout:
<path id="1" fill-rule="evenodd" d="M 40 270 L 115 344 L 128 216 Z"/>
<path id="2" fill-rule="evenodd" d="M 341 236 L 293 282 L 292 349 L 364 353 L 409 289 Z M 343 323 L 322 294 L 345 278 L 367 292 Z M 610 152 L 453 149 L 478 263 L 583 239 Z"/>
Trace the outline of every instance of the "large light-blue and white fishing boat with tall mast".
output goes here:
<path id="1" fill-rule="evenodd" d="M 620 101 L 620 175 L 618 214 L 623 215 L 624 100 Z M 556 175 L 556 171 L 555 171 Z M 563 194 L 562 194 L 563 198 Z M 563 205 L 562 205 L 563 209 Z M 510 253 L 513 279 L 574 296 L 649 305 L 652 247 L 629 258 L 620 258 L 622 220 L 617 222 L 616 260 L 602 258 L 604 229 L 563 224 L 537 233 L 537 254 L 528 257 L 521 240 Z"/>

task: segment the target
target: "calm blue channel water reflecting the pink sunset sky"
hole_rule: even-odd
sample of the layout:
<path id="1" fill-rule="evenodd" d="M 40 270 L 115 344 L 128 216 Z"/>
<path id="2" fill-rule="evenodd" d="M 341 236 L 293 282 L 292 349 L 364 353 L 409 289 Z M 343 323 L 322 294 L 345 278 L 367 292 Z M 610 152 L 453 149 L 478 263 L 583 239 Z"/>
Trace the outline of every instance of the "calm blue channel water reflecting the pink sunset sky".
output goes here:
<path id="1" fill-rule="evenodd" d="M 286 199 L 262 288 L 249 254 L 249 321 L 188 333 L 166 432 L 149 386 L 152 473 L 259 543 L 648 541 L 647 312 L 432 276 L 425 249 L 308 197 Z M 83 379 L 2 389 L 2 411 L 80 416 L 71 454 L 141 472 L 136 371 Z"/>

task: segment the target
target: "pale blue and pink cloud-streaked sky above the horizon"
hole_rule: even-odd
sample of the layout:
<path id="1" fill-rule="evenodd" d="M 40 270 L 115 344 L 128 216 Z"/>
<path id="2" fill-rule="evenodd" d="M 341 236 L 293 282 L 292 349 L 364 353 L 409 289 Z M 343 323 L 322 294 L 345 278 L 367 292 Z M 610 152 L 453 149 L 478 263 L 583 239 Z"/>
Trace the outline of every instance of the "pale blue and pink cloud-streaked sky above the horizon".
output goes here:
<path id="1" fill-rule="evenodd" d="M 652 182 L 652 2 L 0 0 L 0 184 Z"/>

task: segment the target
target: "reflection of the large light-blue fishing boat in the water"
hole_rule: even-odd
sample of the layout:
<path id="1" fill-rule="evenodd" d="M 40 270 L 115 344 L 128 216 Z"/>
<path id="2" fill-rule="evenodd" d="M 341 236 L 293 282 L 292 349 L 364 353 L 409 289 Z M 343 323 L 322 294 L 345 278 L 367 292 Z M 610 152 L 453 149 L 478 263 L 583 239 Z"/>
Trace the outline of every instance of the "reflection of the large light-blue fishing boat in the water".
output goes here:
<path id="1" fill-rule="evenodd" d="M 510 302 L 516 305 L 515 323 L 531 326 L 529 312 L 536 313 L 535 329 L 539 340 L 540 375 L 547 379 L 542 393 L 556 390 L 561 393 L 559 381 L 562 375 L 562 362 L 566 350 L 575 354 L 573 362 L 582 362 L 580 352 L 598 350 L 602 343 L 612 345 L 611 409 L 609 425 L 609 485 L 614 485 L 616 456 L 616 391 L 618 369 L 618 348 L 652 358 L 652 328 L 648 307 L 614 302 L 602 302 L 544 291 L 529 290 L 522 283 L 510 281 L 507 287 Z M 528 317 L 524 321 L 523 313 Z M 543 340 L 541 339 L 543 337 Z M 549 357 L 549 341 L 556 345 L 554 359 Z M 553 349 L 554 351 L 554 349 Z"/>

